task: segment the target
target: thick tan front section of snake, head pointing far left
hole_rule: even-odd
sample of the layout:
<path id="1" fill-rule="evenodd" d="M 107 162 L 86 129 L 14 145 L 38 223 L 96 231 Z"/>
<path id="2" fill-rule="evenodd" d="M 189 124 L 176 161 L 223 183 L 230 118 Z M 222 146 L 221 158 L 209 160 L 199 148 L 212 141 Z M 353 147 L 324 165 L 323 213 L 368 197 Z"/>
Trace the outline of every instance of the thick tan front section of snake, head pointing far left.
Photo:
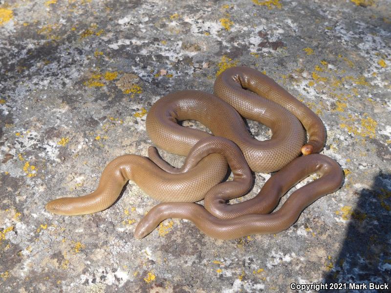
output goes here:
<path id="1" fill-rule="evenodd" d="M 219 146 L 224 150 L 230 149 L 230 146 L 223 145 L 224 142 L 221 142 Z M 94 192 L 80 197 L 52 200 L 46 204 L 46 209 L 59 215 L 84 215 L 102 211 L 117 200 L 128 180 L 159 201 L 200 201 L 227 173 L 224 157 L 210 152 L 208 146 L 202 146 L 194 146 L 197 156 L 189 156 L 192 159 L 188 159 L 184 165 L 188 171 L 181 174 L 165 172 L 146 157 L 117 157 L 103 170 L 99 186 Z"/>

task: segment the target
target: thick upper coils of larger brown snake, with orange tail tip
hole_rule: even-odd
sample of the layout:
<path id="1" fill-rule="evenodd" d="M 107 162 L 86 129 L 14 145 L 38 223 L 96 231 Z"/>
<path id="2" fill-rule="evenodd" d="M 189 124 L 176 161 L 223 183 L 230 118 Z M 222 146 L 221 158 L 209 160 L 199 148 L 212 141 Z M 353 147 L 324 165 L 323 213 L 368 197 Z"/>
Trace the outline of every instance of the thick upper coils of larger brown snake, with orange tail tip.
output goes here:
<path id="1" fill-rule="evenodd" d="M 225 70 L 217 77 L 214 94 L 185 90 L 158 100 L 146 119 L 152 142 L 169 152 L 186 156 L 198 140 L 210 136 L 204 131 L 178 125 L 180 121 L 196 120 L 214 135 L 235 142 L 255 172 L 277 171 L 301 151 L 305 154 L 319 152 L 324 146 L 325 127 L 319 117 L 257 70 L 248 67 Z M 233 107 L 243 117 L 268 126 L 273 133 L 271 139 L 254 139 Z M 305 146 L 300 122 L 309 135 Z M 154 157 L 151 159 L 154 161 Z"/>

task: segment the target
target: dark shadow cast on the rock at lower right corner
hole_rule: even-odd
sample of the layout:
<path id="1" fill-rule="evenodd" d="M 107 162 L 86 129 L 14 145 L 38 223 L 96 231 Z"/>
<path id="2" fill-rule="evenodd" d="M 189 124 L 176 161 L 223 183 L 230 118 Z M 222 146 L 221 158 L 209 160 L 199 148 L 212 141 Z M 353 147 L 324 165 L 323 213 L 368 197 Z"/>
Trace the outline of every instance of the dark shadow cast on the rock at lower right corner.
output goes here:
<path id="1" fill-rule="evenodd" d="M 347 290 L 335 292 L 389 292 L 369 290 L 369 283 L 391 286 L 391 174 L 379 173 L 370 189 L 356 192 L 354 209 L 345 207 L 350 218 L 345 241 L 324 283 L 346 283 Z M 348 283 L 367 284 L 367 290 L 349 290 Z M 330 292 L 324 290 L 320 292 Z"/>

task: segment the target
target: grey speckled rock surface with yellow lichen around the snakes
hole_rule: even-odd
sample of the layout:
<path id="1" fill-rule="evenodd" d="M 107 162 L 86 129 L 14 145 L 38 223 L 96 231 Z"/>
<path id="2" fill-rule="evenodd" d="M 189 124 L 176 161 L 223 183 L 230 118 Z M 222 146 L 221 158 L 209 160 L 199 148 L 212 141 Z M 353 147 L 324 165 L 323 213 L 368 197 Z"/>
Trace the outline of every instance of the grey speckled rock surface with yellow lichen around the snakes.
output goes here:
<path id="1" fill-rule="evenodd" d="M 390 283 L 390 44 L 389 0 L 1 0 L 0 292 Z M 236 64 L 312 108 L 327 129 L 322 153 L 345 171 L 343 187 L 290 229 L 220 241 L 169 219 L 136 240 L 136 223 L 157 201 L 132 183 L 93 215 L 44 209 L 94 190 L 116 156 L 146 155 L 145 115 L 157 99 L 212 92 L 216 75 Z M 254 137 L 270 137 L 248 123 Z M 256 174 L 245 198 L 269 176 Z"/>

